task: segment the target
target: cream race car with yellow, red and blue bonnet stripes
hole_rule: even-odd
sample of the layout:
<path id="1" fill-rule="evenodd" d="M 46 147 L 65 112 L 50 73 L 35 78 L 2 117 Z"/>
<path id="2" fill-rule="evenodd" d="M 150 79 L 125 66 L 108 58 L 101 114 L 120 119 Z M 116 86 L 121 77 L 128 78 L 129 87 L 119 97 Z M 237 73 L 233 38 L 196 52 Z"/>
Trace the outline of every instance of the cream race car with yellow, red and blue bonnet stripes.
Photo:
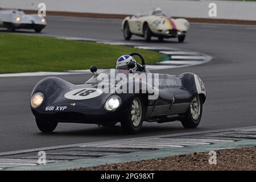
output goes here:
<path id="1" fill-rule="evenodd" d="M 177 37 L 179 42 L 184 42 L 188 30 L 188 20 L 168 18 L 160 8 L 152 10 L 150 15 L 127 16 L 122 22 L 125 40 L 130 40 L 134 34 L 144 37 L 146 41 L 155 36 L 161 41 L 164 38 Z"/>

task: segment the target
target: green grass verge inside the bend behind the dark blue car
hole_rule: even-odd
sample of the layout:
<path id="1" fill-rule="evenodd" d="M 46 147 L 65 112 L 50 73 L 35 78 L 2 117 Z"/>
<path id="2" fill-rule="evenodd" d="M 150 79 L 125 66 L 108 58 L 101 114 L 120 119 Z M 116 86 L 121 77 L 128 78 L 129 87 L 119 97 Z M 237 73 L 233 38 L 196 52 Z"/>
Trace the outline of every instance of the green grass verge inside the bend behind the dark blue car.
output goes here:
<path id="1" fill-rule="evenodd" d="M 0 34 L 0 73 L 114 68 L 119 56 L 140 52 L 146 64 L 163 60 L 155 51 L 44 36 Z M 138 59 L 139 60 L 139 59 Z"/>

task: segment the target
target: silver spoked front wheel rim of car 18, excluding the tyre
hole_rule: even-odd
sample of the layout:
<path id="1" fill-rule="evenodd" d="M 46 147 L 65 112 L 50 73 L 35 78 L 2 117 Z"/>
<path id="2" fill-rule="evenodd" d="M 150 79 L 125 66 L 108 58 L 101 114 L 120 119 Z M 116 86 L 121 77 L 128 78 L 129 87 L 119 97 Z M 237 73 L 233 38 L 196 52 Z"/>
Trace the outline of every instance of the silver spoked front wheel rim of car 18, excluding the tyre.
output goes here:
<path id="1" fill-rule="evenodd" d="M 138 97 L 133 100 L 131 104 L 131 122 L 134 127 L 138 127 L 142 118 L 142 105 Z"/>

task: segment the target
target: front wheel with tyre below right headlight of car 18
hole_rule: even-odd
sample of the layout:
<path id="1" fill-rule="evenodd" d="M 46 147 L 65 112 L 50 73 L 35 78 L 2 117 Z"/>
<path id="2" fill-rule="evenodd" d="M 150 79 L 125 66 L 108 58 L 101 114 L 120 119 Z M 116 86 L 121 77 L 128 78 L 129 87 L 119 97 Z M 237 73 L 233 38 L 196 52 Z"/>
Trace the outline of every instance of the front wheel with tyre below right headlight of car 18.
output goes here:
<path id="1" fill-rule="evenodd" d="M 127 134 L 136 134 L 142 128 L 144 106 L 141 97 L 134 97 L 127 111 L 127 116 L 121 121 L 122 129 Z"/>

